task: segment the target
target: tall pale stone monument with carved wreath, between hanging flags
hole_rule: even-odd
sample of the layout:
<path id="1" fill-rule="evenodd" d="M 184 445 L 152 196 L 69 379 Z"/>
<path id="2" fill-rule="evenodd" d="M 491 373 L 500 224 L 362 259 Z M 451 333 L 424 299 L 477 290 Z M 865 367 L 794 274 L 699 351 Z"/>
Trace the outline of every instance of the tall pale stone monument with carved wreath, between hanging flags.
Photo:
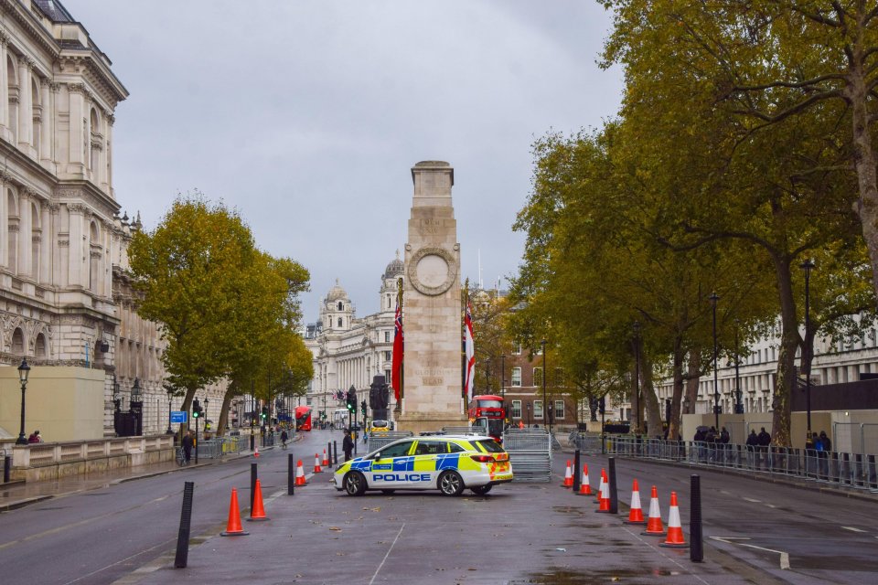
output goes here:
<path id="1" fill-rule="evenodd" d="M 451 203 L 455 169 L 442 161 L 412 168 L 414 196 L 405 245 L 400 429 L 466 425 L 461 380 L 460 244 Z"/>

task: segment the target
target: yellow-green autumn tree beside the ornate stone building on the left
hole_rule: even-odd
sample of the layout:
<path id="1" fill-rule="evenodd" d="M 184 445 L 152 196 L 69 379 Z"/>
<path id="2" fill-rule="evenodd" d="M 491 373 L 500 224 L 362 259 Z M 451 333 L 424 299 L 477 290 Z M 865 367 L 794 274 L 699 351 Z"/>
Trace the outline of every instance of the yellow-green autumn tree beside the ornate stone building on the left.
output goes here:
<path id="1" fill-rule="evenodd" d="M 167 383 L 183 393 L 183 410 L 198 388 L 228 379 L 221 433 L 234 396 L 305 391 L 311 355 L 295 332 L 308 272 L 259 250 L 237 213 L 177 198 L 158 227 L 134 234 L 128 255 L 138 313 L 159 324 Z"/>

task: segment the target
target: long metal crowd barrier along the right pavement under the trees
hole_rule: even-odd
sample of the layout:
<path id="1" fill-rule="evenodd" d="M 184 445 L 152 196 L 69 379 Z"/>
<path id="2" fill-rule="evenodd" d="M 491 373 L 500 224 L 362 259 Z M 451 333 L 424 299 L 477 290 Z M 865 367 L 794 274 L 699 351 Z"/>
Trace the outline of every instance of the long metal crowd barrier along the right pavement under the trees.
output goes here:
<path id="1" fill-rule="evenodd" d="M 601 452 L 601 437 L 571 433 L 571 445 Z M 836 484 L 878 493 L 875 455 L 821 452 L 791 447 L 751 446 L 706 441 L 665 441 L 633 435 L 605 435 L 608 455 L 672 461 L 702 467 L 722 467 L 749 473 L 787 475 L 806 481 Z"/>

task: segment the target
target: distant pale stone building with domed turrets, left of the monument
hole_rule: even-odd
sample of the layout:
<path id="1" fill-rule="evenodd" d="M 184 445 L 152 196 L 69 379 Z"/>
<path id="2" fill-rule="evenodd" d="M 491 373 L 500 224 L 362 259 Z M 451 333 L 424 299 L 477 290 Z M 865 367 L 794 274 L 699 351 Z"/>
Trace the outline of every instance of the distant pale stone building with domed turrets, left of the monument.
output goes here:
<path id="1" fill-rule="evenodd" d="M 305 346 L 314 356 L 314 379 L 305 401 L 315 414 L 327 410 L 330 420 L 333 410 L 345 408 L 336 399 L 338 390 L 347 392 L 353 386 L 358 390 L 358 402 L 368 402 L 373 377 L 384 376 L 390 384 L 397 280 L 403 271 L 397 253 L 381 275 L 380 311 L 376 314 L 356 317 L 354 304 L 337 282 L 321 300 L 318 320 L 305 327 Z M 390 408 L 395 408 L 392 392 Z"/>

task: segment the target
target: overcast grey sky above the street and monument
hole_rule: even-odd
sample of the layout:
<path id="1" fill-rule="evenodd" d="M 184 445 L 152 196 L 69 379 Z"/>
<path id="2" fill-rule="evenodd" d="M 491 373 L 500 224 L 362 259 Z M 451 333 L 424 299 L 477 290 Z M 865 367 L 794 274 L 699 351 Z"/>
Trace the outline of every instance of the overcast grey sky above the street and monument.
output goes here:
<path id="1" fill-rule="evenodd" d="M 455 168 L 462 280 L 514 275 L 534 140 L 600 126 L 618 69 L 592 0 L 62 0 L 131 96 L 113 180 L 154 229 L 178 193 L 236 208 L 311 272 L 305 322 L 338 279 L 362 317 L 407 239 L 411 167 Z"/>

